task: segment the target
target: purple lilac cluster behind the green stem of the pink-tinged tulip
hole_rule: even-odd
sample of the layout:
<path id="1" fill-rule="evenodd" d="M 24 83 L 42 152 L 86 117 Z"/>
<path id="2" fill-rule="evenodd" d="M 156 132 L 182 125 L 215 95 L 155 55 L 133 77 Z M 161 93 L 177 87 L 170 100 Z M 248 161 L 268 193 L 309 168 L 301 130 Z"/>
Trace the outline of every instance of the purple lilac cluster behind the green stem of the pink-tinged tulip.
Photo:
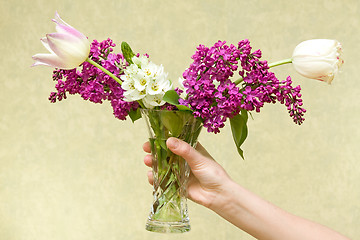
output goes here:
<path id="1" fill-rule="evenodd" d="M 93 61 L 101 64 L 115 76 L 119 77 L 126 62 L 122 54 L 115 54 L 115 43 L 111 39 L 91 43 L 90 56 Z M 116 118 L 125 120 L 131 110 L 139 107 L 137 102 L 125 102 L 124 90 L 121 85 L 109 75 L 88 62 L 84 62 L 82 68 L 72 70 L 56 69 L 53 72 L 53 80 L 57 92 L 50 94 L 49 100 L 53 103 L 66 99 L 67 94 L 79 94 L 84 100 L 93 103 L 110 101 Z"/>

